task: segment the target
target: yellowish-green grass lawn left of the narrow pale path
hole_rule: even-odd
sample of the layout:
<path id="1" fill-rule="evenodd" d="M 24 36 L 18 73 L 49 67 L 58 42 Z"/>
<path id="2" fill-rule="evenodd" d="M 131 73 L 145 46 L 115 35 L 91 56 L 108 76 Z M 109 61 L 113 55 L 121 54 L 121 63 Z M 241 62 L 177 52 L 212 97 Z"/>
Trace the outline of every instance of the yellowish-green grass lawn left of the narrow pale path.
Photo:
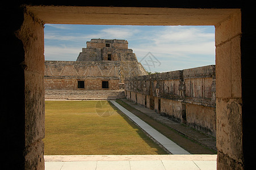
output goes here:
<path id="1" fill-rule="evenodd" d="M 45 155 L 166 154 L 108 101 L 45 101 Z"/>

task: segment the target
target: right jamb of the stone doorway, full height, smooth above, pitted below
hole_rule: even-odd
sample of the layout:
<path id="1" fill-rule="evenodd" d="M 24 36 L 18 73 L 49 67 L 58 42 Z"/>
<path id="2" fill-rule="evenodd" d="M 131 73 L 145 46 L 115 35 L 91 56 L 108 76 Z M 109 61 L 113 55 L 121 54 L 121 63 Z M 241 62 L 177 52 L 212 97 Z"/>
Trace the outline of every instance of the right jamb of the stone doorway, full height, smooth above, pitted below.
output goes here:
<path id="1" fill-rule="evenodd" d="M 242 169 L 241 12 L 216 25 L 217 169 Z"/>

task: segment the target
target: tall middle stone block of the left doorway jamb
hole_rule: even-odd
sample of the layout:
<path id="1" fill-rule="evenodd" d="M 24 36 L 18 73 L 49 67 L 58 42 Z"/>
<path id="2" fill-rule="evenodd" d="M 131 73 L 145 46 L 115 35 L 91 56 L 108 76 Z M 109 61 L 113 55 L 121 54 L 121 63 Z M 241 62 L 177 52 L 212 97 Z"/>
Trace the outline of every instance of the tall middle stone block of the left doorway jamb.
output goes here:
<path id="1" fill-rule="evenodd" d="M 44 138 L 44 75 L 25 71 L 25 145 Z"/>

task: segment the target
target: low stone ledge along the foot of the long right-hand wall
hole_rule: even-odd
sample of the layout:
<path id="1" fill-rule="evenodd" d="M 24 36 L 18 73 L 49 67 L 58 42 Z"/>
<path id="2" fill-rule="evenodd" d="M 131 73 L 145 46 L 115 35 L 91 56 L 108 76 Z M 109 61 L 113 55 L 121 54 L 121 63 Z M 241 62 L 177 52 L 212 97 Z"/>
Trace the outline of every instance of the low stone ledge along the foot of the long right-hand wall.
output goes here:
<path id="1" fill-rule="evenodd" d="M 210 135 L 201 133 L 198 130 L 192 129 L 192 128 L 182 125 L 178 122 L 172 121 L 169 118 L 161 116 L 161 114 L 154 112 L 153 110 L 145 108 L 142 105 L 133 103 L 132 101 L 129 101 L 127 99 L 121 99 L 121 100 L 123 100 L 125 103 L 131 105 L 131 107 L 136 108 L 140 112 L 147 114 L 150 118 L 153 118 L 154 120 L 169 126 L 170 128 L 178 131 L 179 133 L 187 136 L 188 138 L 191 138 L 194 141 L 197 141 L 197 142 L 201 143 L 202 145 L 207 146 L 208 148 L 212 148 L 213 150 L 217 151 L 216 138 L 213 138 Z"/>

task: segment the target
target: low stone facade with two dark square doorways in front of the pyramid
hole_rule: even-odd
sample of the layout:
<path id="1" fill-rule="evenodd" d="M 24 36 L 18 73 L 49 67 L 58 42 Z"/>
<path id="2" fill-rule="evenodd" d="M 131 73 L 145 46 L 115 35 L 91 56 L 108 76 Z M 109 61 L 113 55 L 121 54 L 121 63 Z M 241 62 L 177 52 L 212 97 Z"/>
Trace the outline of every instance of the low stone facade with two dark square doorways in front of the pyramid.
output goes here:
<path id="1" fill-rule="evenodd" d="M 102 90 L 102 81 L 108 81 L 104 90 L 119 89 L 120 62 L 45 61 L 44 71 L 45 90 Z"/>

